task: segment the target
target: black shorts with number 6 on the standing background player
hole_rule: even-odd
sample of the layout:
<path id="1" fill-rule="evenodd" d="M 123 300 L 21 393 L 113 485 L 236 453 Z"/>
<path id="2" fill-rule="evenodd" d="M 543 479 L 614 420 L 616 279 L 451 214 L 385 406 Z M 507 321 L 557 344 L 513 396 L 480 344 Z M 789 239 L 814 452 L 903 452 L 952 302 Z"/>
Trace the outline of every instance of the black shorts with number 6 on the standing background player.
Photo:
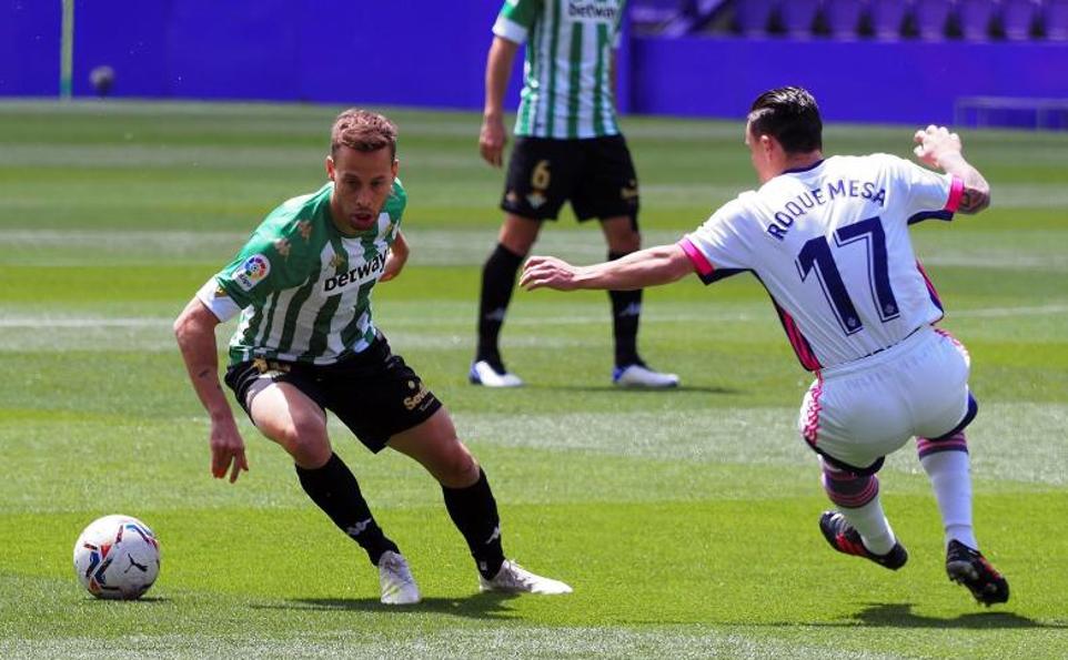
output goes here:
<path id="1" fill-rule="evenodd" d="M 501 209 L 556 220 L 567 200 L 580 221 L 626 215 L 637 231 L 637 174 L 623 135 L 515 140 Z"/>

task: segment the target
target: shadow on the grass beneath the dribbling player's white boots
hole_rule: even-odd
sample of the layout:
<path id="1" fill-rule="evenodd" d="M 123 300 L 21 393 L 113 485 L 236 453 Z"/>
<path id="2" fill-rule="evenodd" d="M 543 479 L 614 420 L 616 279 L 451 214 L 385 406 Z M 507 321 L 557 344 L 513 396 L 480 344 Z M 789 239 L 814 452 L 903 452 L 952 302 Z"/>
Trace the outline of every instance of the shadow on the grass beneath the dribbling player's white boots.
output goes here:
<path id="1" fill-rule="evenodd" d="M 504 607 L 515 593 L 476 593 L 470 598 L 424 598 L 416 605 L 382 605 L 376 598 L 296 598 L 278 605 L 253 605 L 253 609 L 320 612 L 390 612 L 391 615 L 452 615 L 467 619 L 508 619 L 513 610 Z"/>

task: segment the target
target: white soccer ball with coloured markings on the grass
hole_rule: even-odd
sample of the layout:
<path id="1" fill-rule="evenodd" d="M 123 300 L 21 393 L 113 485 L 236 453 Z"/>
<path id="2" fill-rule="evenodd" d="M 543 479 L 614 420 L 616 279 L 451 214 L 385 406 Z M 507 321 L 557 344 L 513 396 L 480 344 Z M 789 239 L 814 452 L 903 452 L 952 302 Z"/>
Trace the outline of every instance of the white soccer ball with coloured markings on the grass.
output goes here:
<path id="1" fill-rule="evenodd" d="M 137 518 L 98 518 L 74 544 L 74 572 L 97 598 L 141 598 L 160 573 L 160 542 Z"/>

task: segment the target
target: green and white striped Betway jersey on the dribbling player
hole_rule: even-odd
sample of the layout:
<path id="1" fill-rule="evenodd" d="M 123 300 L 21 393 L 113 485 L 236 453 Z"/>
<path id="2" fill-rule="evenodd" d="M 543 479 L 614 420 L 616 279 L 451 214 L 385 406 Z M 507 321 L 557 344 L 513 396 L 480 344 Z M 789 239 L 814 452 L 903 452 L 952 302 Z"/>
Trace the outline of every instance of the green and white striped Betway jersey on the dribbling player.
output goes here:
<path id="1" fill-rule="evenodd" d="M 396 180 L 377 224 L 347 237 L 331 221 L 332 191 L 328 183 L 284 202 L 215 275 L 242 308 L 230 339 L 231 364 L 254 357 L 332 364 L 374 339 L 371 288 L 382 275 L 407 197 Z"/>

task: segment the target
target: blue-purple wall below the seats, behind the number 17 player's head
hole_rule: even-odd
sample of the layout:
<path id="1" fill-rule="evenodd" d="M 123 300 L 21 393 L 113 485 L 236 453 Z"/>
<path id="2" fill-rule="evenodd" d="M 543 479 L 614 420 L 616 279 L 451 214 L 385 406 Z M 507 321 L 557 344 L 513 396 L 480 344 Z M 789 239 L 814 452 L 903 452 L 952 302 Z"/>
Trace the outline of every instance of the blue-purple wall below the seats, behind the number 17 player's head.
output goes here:
<path id="1" fill-rule="evenodd" d="M 1068 98 L 1068 43 L 637 39 L 631 57 L 632 108 L 645 114 L 738 118 L 784 84 L 850 122 L 950 123 L 967 97 Z"/>

